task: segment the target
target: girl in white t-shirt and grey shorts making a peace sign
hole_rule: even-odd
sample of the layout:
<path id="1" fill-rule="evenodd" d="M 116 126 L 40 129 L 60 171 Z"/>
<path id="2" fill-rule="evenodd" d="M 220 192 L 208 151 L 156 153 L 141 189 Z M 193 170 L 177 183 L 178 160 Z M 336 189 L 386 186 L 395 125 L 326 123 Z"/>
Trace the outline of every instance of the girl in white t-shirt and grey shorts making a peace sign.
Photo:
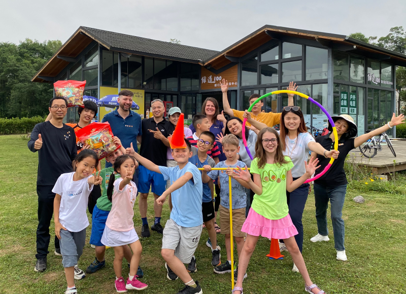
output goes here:
<path id="1" fill-rule="evenodd" d="M 75 171 L 61 174 L 52 189 L 55 193 L 55 235 L 60 240 L 62 265 L 67 282 L 65 294 L 77 293 L 75 279 L 85 277 L 85 273 L 78 267 L 78 260 L 83 253 L 86 228 L 89 226 L 86 215 L 87 201 L 93 185 L 101 183 L 100 171 L 96 176 L 92 176 L 97 163 L 96 153 L 84 149 L 74 161 Z"/>

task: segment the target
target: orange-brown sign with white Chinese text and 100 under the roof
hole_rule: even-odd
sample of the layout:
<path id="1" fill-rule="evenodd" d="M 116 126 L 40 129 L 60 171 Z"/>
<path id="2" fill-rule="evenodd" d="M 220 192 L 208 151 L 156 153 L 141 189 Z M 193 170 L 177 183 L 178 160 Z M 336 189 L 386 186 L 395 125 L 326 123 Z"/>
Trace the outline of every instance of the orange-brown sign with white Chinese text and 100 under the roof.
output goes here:
<path id="1" fill-rule="evenodd" d="M 200 89 L 201 90 L 208 90 L 208 89 L 221 89 L 220 82 L 225 79 L 227 80 L 228 87 L 237 87 L 237 75 L 238 75 L 238 66 L 234 65 L 222 72 L 218 75 L 215 75 L 210 70 L 206 69 L 205 67 L 201 67 L 201 80 L 200 80 Z"/>

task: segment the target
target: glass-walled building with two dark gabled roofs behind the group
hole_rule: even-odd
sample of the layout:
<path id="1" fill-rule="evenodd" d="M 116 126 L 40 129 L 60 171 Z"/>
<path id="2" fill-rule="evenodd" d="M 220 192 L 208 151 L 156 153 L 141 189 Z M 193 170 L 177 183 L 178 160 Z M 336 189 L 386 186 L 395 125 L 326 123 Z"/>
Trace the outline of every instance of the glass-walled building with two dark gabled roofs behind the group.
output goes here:
<path id="1" fill-rule="evenodd" d="M 395 111 L 395 66 L 406 55 L 345 35 L 265 25 L 221 52 L 138 36 L 79 27 L 36 73 L 33 82 L 86 80 L 85 94 L 103 97 L 120 89 L 134 92 L 138 113 L 160 98 L 179 106 L 185 117 L 201 111 L 207 97 L 222 108 L 220 80 L 228 81 L 232 108 L 247 109 L 248 97 L 286 89 L 320 102 L 331 115 L 349 114 L 358 135 L 387 123 Z M 287 95 L 264 101 L 265 112 L 281 112 Z M 326 116 L 295 97 L 308 126 L 322 129 Z M 111 108 L 100 107 L 99 119 Z M 75 120 L 75 108 L 67 120 Z M 77 119 L 77 118 L 76 118 Z M 395 135 L 395 128 L 389 131 Z"/>

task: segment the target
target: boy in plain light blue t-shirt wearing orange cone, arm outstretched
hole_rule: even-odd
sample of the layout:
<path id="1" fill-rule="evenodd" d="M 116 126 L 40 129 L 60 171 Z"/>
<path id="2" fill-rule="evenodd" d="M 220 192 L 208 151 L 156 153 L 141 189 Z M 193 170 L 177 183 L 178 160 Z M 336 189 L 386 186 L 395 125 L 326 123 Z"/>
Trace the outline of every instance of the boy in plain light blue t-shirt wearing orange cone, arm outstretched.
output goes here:
<path id="1" fill-rule="evenodd" d="M 183 135 L 182 135 L 183 136 Z M 201 212 L 202 181 L 200 171 L 189 162 L 192 146 L 184 139 L 186 148 L 175 148 L 172 151 L 175 167 L 158 166 L 134 152 L 129 155 L 138 160 L 144 167 L 171 180 L 171 187 L 156 199 L 162 205 L 169 194 L 172 194 L 171 218 L 163 230 L 161 255 L 165 260 L 166 277 L 176 280 L 178 277 L 185 283 L 190 294 L 201 294 L 198 281 L 194 281 L 183 264 L 189 264 L 199 243 L 203 217 Z M 173 271 L 173 270 L 174 271 Z M 175 274 L 176 272 L 176 274 Z M 183 290 L 182 290 L 183 291 Z"/>

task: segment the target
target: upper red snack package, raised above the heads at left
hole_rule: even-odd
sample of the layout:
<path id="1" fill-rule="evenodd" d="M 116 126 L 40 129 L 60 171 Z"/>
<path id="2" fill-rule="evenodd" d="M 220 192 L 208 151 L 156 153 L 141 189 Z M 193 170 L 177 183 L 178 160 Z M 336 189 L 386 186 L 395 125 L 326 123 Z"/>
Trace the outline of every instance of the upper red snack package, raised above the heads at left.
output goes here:
<path id="1" fill-rule="evenodd" d="M 80 106 L 83 104 L 83 91 L 85 90 L 86 81 L 57 81 L 54 83 L 55 95 L 66 99 L 67 107 Z"/>

